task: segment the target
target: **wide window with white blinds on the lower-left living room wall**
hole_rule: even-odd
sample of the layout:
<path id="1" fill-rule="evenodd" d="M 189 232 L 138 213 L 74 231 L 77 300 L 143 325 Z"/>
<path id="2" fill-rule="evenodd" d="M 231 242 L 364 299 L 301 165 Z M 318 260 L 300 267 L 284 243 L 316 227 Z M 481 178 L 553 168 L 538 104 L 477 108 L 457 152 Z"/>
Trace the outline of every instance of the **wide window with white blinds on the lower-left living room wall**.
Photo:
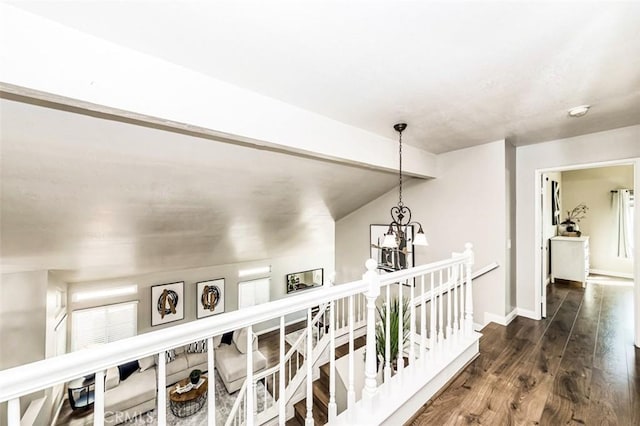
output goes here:
<path id="1" fill-rule="evenodd" d="M 132 337 L 138 331 L 138 302 L 80 309 L 71 321 L 73 351 Z"/>

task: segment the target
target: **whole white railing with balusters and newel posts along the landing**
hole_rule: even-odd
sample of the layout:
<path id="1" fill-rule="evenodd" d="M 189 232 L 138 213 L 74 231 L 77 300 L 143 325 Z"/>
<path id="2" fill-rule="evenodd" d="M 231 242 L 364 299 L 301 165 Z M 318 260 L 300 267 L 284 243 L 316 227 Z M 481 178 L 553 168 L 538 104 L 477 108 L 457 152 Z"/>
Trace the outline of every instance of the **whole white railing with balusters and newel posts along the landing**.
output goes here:
<path id="1" fill-rule="evenodd" d="M 20 367 L 0 371 L 0 403 L 8 402 L 7 424 L 9 426 L 20 425 L 20 397 L 36 391 L 49 388 L 60 383 L 68 382 L 72 379 L 89 374 L 96 375 L 94 424 L 102 425 L 105 420 L 105 398 L 104 398 L 104 377 L 105 371 L 112 366 L 125 362 L 141 359 L 150 355 L 158 355 L 157 365 L 157 413 L 158 423 L 166 422 L 166 400 L 167 383 L 165 375 L 165 352 L 171 348 L 187 345 L 191 342 L 207 339 L 208 347 L 213 347 L 213 337 L 241 328 L 247 328 L 247 347 L 252 347 L 252 327 L 255 324 L 280 319 L 280 356 L 277 370 L 270 369 L 263 373 L 253 372 L 252 353 L 247 353 L 247 368 L 244 390 L 241 391 L 243 397 L 237 400 L 236 413 L 237 423 L 253 425 L 257 418 L 257 398 L 254 393 L 258 379 L 265 379 L 265 392 L 267 389 L 266 378 L 271 374 L 272 390 L 277 393 L 278 423 L 284 424 L 286 420 L 286 395 L 291 393 L 285 390 L 285 369 L 292 365 L 292 359 L 296 358 L 294 353 L 299 353 L 302 345 L 305 346 L 306 354 L 313 354 L 314 338 L 312 330 L 318 329 L 318 338 L 315 339 L 315 346 L 321 337 L 326 337 L 328 333 L 329 362 L 331 364 L 331 375 L 329 384 L 329 421 L 333 421 L 337 416 L 336 403 L 336 378 L 335 375 L 335 340 L 336 331 L 345 329 L 348 335 L 348 360 L 349 374 L 347 380 L 347 410 L 356 404 L 356 389 L 362 389 L 362 398 L 372 398 L 378 388 L 376 382 L 376 326 L 382 327 L 385 335 L 385 348 L 383 361 L 384 382 L 392 379 L 391 370 L 401 372 L 405 365 L 408 366 L 417 359 L 424 357 L 444 357 L 447 355 L 447 348 L 456 341 L 472 337 L 473 324 L 473 303 L 471 287 L 471 265 L 473 264 L 473 253 L 471 245 L 467 244 L 466 251 L 459 255 L 454 255 L 451 259 L 428 265 L 418 266 L 408 270 L 392 272 L 385 275 L 378 275 L 376 263 L 369 260 L 366 263 L 367 272 L 360 281 L 323 287 L 317 290 L 265 303 L 258 306 L 221 314 L 214 317 L 177 325 L 174 327 L 146 333 L 129 339 L 104 345 L 100 348 L 86 349 L 59 357 L 50 358 Z M 464 285 L 456 283 L 463 282 Z M 403 284 L 401 284 L 403 283 Z M 415 283 L 415 284 L 414 284 Z M 410 284 L 408 287 L 404 284 Z M 397 289 L 396 289 L 397 288 Z M 384 296 L 379 297 L 383 291 Z M 405 342 L 398 345 L 397 353 L 391 353 L 390 340 L 391 323 L 390 307 L 392 293 L 397 293 L 400 301 L 405 300 L 405 295 L 409 300 L 419 298 L 420 303 L 415 305 L 409 303 L 409 331 L 404 327 L 397 327 L 397 341 Z M 405 294 L 405 293 L 409 294 Z M 416 294 L 417 293 L 417 294 Z M 429 297 L 426 295 L 429 294 Z M 381 306 L 386 312 L 386 322 L 381 323 L 376 316 L 376 304 Z M 312 318 L 312 309 L 325 305 L 328 310 L 321 310 L 315 318 Z M 427 306 L 428 305 L 428 306 Z M 416 309 L 417 306 L 417 309 Z M 404 318 L 403 303 L 399 303 L 399 317 Z M 307 312 L 306 336 L 298 339 L 294 347 L 287 353 L 284 351 L 284 317 L 294 312 L 305 310 Z M 326 321 L 326 316 L 329 320 Z M 417 323 L 417 312 L 420 312 L 419 325 Z M 323 318 L 322 327 L 318 327 L 320 319 Z M 359 321 L 366 322 L 366 357 L 364 384 L 357 381 L 354 371 L 355 363 L 361 362 L 354 356 L 354 326 Z M 328 324 L 328 330 L 326 329 Z M 417 328 L 417 329 L 416 329 Z M 322 330 L 322 336 L 320 335 Z M 408 338 L 405 339 L 406 334 Z M 312 336 L 312 338 L 308 338 Z M 395 338 L 395 337 L 394 337 Z M 214 364 L 215 351 L 209 350 L 208 371 L 210 377 L 215 371 Z M 311 358 L 311 357 L 309 357 Z M 308 359 L 298 368 L 305 370 L 306 380 L 306 419 L 305 424 L 313 424 L 313 392 L 312 392 L 312 367 L 313 362 Z M 395 368 L 394 365 L 395 364 Z M 275 367 L 274 367 L 275 368 Z M 296 370 L 298 370 L 296 368 Z M 276 372 L 276 374 L 274 374 Z M 290 383 L 295 380 L 295 372 L 289 373 Z M 276 389 L 276 376 L 278 391 Z M 215 380 L 209 380 L 209 395 L 215 392 L 225 391 L 214 389 Z M 253 389 L 248 389 L 249 386 Z M 283 396 L 285 398 L 283 398 Z M 266 398 L 266 394 L 262 397 Z M 208 424 L 216 424 L 215 398 L 209 398 L 208 402 Z M 157 408 L 156 407 L 156 408 Z M 273 408 L 273 406 L 271 406 Z M 376 409 L 382 407 L 376 407 Z M 384 407 L 389 410 L 390 407 Z M 233 419 L 232 419 L 233 421 Z"/>

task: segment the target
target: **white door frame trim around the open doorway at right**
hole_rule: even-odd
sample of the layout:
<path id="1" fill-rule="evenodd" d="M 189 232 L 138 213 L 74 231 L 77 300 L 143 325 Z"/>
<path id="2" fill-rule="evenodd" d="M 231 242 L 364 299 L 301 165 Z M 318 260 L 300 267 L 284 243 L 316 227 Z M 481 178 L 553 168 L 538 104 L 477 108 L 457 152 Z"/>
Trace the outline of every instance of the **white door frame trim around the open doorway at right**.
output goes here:
<path id="1" fill-rule="evenodd" d="M 640 172 L 640 160 L 621 160 L 621 161 L 610 161 L 610 162 L 602 162 L 602 163 L 592 163 L 592 164 L 580 164 L 574 166 L 563 166 L 557 168 L 549 168 L 549 169 L 540 169 L 536 170 L 536 193 L 539 194 L 536 197 L 536 242 L 538 243 L 538 249 L 536 250 L 536 314 L 538 318 L 542 318 L 546 316 L 546 289 L 549 278 L 549 268 L 550 268 L 550 257 L 549 257 L 549 238 L 552 233 L 555 233 L 556 224 L 555 221 L 562 221 L 566 216 L 567 210 L 571 210 L 576 203 L 576 198 L 570 199 L 568 203 L 562 204 L 560 202 L 560 216 L 557 218 L 557 212 L 555 211 L 558 206 L 553 205 L 553 197 L 557 197 L 558 194 L 552 194 L 552 191 L 555 191 L 558 187 L 560 188 L 560 200 L 562 200 L 562 185 L 559 184 L 561 182 L 561 176 L 563 172 L 567 172 L 567 175 L 573 175 L 574 172 L 578 172 L 580 170 L 591 171 L 592 169 L 601 169 L 607 167 L 614 166 L 629 166 L 632 170 L 633 179 L 632 182 L 634 185 L 628 189 L 634 189 L 638 183 L 638 173 Z M 553 184 L 553 182 L 556 182 Z M 600 191 L 602 188 L 594 189 L 595 191 Z M 615 190 L 618 188 L 609 188 L 609 190 Z M 553 197 L 552 197 L 553 195 Z M 602 196 L 607 196 L 608 194 L 603 193 Z M 554 215 L 556 213 L 556 215 Z M 633 218 L 632 224 L 635 225 L 633 241 L 635 242 L 635 256 L 633 261 L 630 261 L 631 264 L 629 269 L 629 276 L 635 278 L 635 282 L 639 283 L 638 275 L 639 275 L 639 259 L 638 259 L 638 244 L 640 241 L 640 214 L 638 213 L 638 209 L 633 210 Z M 598 242 L 602 244 L 602 238 L 598 239 Z M 603 248 L 600 247 L 600 250 Z M 634 337 L 636 346 L 640 347 L 640 284 L 636 284 L 634 286 Z"/>

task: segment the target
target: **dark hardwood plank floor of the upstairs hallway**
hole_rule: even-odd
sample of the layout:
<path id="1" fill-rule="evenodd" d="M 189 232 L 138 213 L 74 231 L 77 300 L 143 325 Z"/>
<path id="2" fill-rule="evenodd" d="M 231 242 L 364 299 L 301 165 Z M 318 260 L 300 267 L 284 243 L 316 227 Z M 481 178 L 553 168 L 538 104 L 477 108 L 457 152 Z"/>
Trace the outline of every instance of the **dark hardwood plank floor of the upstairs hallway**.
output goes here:
<path id="1" fill-rule="evenodd" d="M 633 288 L 553 285 L 547 318 L 489 324 L 480 356 L 412 425 L 640 425 Z"/>

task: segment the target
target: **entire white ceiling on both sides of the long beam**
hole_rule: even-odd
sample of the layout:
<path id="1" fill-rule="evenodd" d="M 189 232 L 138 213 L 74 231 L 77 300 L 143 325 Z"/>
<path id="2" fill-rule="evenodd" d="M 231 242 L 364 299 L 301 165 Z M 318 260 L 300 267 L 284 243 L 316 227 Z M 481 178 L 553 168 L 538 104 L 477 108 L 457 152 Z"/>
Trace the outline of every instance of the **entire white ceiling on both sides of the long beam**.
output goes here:
<path id="1" fill-rule="evenodd" d="M 8 3 L 393 140 L 407 121 L 404 140 L 433 153 L 640 123 L 638 2 Z M 567 118 L 580 104 L 593 108 Z M 396 184 L 6 99 L 0 125 L 3 272 L 283 255 Z"/>

